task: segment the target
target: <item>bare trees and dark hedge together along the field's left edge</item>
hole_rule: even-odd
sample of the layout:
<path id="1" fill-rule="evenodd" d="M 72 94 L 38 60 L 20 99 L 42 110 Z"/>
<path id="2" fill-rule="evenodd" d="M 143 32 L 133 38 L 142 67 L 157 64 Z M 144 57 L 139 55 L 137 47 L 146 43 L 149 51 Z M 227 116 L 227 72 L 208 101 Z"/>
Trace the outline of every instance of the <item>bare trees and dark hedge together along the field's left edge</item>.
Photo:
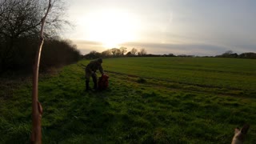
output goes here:
<path id="1" fill-rule="evenodd" d="M 54 0 L 45 26 L 40 70 L 77 62 L 81 58 L 77 47 L 58 37 L 65 20 L 66 9 L 61 0 Z M 0 73 L 8 70 L 32 72 L 38 47 L 42 15 L 46 13 L 44 0 L 0 1 Z"/>

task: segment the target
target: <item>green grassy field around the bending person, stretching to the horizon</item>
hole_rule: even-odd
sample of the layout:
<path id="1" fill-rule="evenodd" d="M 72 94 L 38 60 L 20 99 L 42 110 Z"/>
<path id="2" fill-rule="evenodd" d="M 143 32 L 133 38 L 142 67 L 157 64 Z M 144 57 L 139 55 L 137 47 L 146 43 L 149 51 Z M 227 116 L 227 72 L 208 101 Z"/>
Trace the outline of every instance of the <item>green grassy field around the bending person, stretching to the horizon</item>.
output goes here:
<path id="1" fill-rule="evenodd" d="M 86 92 L 88 62 L 40 77 L 43 143 L 230 143 L 244 123 L 256 142 L 255 60 L 108 58 L 109 89 Z M 0 143 L 30 139 L 31 83 L 15 82 L 0 83 Z"/>

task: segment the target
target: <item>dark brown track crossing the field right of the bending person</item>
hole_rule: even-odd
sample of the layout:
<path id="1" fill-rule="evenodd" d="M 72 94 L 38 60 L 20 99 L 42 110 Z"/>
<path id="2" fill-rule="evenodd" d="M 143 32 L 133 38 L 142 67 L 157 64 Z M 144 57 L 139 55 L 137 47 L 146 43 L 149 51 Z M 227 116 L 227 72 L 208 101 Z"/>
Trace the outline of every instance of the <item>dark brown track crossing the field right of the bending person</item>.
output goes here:
<path id="1" fill-rule="evenodd" d="M 109 71 L 109 70 L 105 70 L 105 71 L 110 74 L 127 76 L 128 78 L 126 78 L 126 81 L 130 81 L 130 82 L 137 82 L 138 78 L 144 78 L 147 80 L 155 81 L 155 82 L 142 83 L 143 85 L 146 85 L 146 86 L 162 87 L 169 90 L 182 90 L 184 92 L 194 92 L 194 93 L 200 93 L 200 94 L 218 94 L 219 96 L 230 96 L 230 97 L 236 97 L 236 98 L 254 98 L 251 96 L 254 94 L 230 94 L 228 92 L 229 90 L 241 90 L 236 88 L 225 88 L 226 89 L 225 92 L 222 92 L 223 87 L 221 86 L 206 86 L 206 85 L 200 85 L 200 84 L 191 84 L 189 82 L 175 82 L 170 80 L 163 80 L 161 78 L 148 78 L 148 77 L 140 77 L 132 74 L 122 74 L 122 73 Z M 163 83 L 163 84 L 159 85 L 159 83 Z M 172 83 L 178 86 L 168 86 L 168 83 Z M 193 88 L 187 88 L 187 86 L 193 86 Z"/>

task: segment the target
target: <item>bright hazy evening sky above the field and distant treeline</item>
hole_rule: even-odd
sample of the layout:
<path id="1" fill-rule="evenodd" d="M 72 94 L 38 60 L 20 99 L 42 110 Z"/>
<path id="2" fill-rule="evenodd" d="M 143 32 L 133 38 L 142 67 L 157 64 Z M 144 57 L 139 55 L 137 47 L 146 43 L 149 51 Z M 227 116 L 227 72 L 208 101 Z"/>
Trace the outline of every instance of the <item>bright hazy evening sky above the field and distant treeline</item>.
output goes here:
<path id="1" fill-rule="evenodd" d="M 256 52 L 255 0 L 67 1 L 71 39 L 82 54 L 144 48 L 148 54 Z"/>

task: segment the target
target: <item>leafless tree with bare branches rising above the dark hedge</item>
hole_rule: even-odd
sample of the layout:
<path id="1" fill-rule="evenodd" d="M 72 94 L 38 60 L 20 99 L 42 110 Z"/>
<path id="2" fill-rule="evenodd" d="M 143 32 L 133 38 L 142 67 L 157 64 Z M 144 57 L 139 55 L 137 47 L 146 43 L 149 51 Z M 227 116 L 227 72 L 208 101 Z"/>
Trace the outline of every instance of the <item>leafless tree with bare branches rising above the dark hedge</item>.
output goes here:
<path id="1" fill-rule="evenodd" d="M 66 6 L 62 0 L 51 1 L 51 12 L 46 20 L 44 35 L 58 34 L 64 24 Z M 14 57 L 14 43 L 18 38 L 38 38 L 41 18 L 46 13 L 48 2 L 45 0 L 1 0 L 0 1 L 0 64 L 8 65 L 8 59 Z"/>

